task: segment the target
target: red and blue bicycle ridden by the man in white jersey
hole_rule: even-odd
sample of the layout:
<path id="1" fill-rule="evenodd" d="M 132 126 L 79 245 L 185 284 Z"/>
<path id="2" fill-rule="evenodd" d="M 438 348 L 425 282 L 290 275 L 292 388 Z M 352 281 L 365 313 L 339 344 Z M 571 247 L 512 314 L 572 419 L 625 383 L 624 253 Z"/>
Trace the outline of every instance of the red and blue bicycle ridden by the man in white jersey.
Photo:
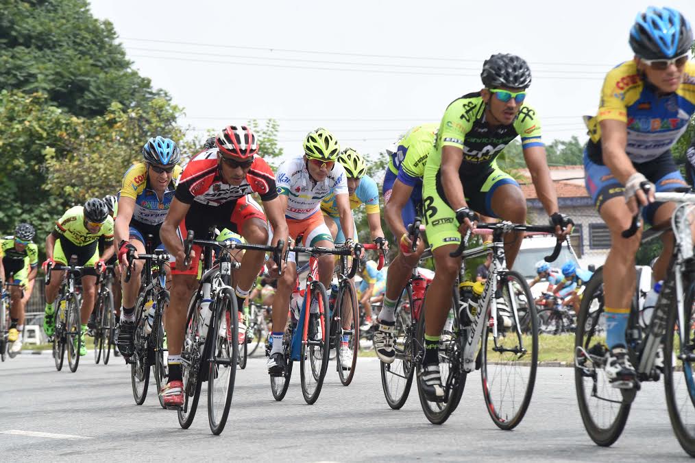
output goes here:
<path id="1" fill-rule="evenodd" d="M 301 238 L 297 237 L 297 242 Z M 362 245 L 355 243 L 354 254 L 361 253 Z M 350 256 L 352 250 L 347 247 L 291 247 L 289 252 L 295 252 L 297 256 L 300 252 L 310 254 L 309 257 L 309 274 L 306 275 L 306 290 L 304 293 L 304 303 L 300 308 L 299 316 L 295 318 L 295 314 L 291 313 L 291 320 L 285 329 L 283 337 L 283 357 L 285 361 L 285 373 L 281 376 L 270 377 L 270 389 L 275 400 L 282 400 L 287 393 L 292 376 L 293 362 L 300 362 L 301 371 L 300 379 L 302 382 L 302 396 L 304 401 L 312 405 L 318 400 L 321 392 L 323 380 L 328 369 L 329 352 L 331 348 L 330 329 L 332 323 L 329 316 L 328 295 L 325 286 L 318 279 L 318 256 L 322 254 L 333 254 L 337 256 Z M 357 273 L 359 261 L 354 261 L 348 278 L 354 277 Z M 299 274 L 297 270 L 297 274 Z M 318 339 L 309 339 L 309 319 L 307 316 L 309 307 L 313 299 L 318 302 L 318 327 L 316 332 Z M 357 297 L 355 298 L 357 301 Z M 337 311 L 336 311 L 337 312 Z M 266 344 L 265 354 L 270 356 L 270 342 Z"/>

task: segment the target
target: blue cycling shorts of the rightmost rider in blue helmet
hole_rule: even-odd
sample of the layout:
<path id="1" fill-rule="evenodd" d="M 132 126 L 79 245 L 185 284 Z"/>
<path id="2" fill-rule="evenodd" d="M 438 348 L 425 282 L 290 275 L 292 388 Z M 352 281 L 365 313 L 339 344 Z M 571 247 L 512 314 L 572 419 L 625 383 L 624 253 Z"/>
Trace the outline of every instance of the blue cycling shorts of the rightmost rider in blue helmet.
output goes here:
<path id="1" fill-rule="evenodd" d="M 643 174 L 648 181 L 655 185 L 657 192 L 672 191 L 687 186 L 670 151 L 646 163 L 632 163 L 632 165 L 637 172 Z M 601 206 L 607 200 L 622 197 L 625 193 L 625 187 L 613 177 L 607 165 L 597 164 L 589 159 L 586 148 L 584 148 L 584 172 L 586 172 L 584 184 L 587 186 L 587 191 L 591 195 L 591 200 L 594 201 L 597 211 L 600 212 Z M 644 221 L 653 225 L 654 214 L 662 204 L 664 203 L 653 202 L 646 206 L 642 210 Z"/>

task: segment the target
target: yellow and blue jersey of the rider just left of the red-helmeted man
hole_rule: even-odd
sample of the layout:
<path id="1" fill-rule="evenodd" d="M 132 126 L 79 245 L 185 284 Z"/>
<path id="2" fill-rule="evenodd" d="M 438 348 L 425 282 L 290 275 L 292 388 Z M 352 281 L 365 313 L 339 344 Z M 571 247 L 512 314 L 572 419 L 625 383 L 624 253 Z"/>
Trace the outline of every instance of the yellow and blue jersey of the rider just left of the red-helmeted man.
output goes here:
<path id="1" fill-rule="evenodd" d="M 153 225 L 161 225 L 169 211 L 169 206 L 174 197 L 174 182 L 181 176 L 181 166 L 174 166 L 172 181 L 164 192 L 162 200 L 159 200 L 157 193 L 149 184 L 147 178 L 147 165 L 137 163 L 131 165 L 123 175 L 123 182 L 118 197 L 129 197 L 135 200 L 131 226 L 140 228 L 152 228 Z"/>

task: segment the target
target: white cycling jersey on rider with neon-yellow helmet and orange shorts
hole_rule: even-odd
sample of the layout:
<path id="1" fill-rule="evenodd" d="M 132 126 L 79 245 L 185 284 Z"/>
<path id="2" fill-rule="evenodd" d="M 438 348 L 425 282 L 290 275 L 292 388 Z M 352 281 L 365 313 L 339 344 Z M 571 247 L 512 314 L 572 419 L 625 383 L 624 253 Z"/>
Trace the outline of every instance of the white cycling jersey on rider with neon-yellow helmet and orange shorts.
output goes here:
<path id="1" fill-rule="evenodd" d="M 306 170 L 304 157 L 288 159 L 275 175 L 277 193 L 287 196 L 285 216 L 303 219 L 318 212 L 321 200 L 329 194 L 347 195 L 347 175 L 341 163 L 335 163 L 324 181 L 313 181 Z"/>

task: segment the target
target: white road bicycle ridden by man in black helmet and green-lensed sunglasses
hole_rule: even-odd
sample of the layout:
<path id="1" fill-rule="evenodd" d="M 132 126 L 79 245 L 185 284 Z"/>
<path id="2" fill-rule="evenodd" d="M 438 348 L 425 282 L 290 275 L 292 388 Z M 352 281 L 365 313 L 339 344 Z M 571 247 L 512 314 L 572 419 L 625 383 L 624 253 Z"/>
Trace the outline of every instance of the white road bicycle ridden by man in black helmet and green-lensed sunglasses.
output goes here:
<path id="1" fill-rule="evenodd" d="M 464 291 L 452 292 L 451 331 L 444 330 L 439 342 L 444 401 L 427 400 L 420 387 L 418 395 L 427 419 L 434 424 L 444 423 L 461 400 L 466 376 L 480 368 L 488 413 L 498 428 L 511 430 L 521 423 L 533 393 L 538 363 L 538 330 L 536 309 L 526 279 L 506 268 L 503 235 L 508 232 L 554 234 L 555 227 L 499 222 L 478 224 L 477 228 L 492 230 L 493 240 L 465 250 L 472 235 L 469 230 L 458 249 L 450 253 L 450 257 L 463 257 L 454 288 L 461 289 L 466 277 L 467 259 L 492 253 L 489 277 L 477 301 L 475 298 L 466 300 Z M 546 261 L 557 259 L 561 246 L 562 241 L 557 241 L 553 254 L 546 257 Z M 503 300 L 506 307 L 498 307 L 498 300 Z M 520 307 L 525 314 L 520 314 Z M 523 316 L 531 324 L 528 334 L 523 332 L 520 321 Z M 425 343 L 424 316 L 418 319 L 416 339 L 416 371 L 420 377 Z"/>

